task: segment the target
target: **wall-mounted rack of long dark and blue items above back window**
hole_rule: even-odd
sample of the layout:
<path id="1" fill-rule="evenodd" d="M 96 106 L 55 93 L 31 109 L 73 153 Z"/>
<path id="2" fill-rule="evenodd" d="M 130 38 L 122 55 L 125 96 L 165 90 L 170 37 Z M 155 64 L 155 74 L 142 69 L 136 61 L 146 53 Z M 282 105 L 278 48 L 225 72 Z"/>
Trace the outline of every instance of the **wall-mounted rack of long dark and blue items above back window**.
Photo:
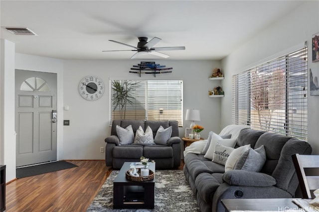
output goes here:
<path id="1" fill-rule="evenodd" d="M 138 64 L 137 66 L 133 66 L 130 71 L 130 73 L 138 73 L 140 74 L 140 77 L 142 74 L 154 74 L 156 77 L 156 74 L 161 73 L 171 73 L 173 68 L 166 68 L 164 65 L 156 64 L 155 62 L 141 62 L 141 64 Z"/>

